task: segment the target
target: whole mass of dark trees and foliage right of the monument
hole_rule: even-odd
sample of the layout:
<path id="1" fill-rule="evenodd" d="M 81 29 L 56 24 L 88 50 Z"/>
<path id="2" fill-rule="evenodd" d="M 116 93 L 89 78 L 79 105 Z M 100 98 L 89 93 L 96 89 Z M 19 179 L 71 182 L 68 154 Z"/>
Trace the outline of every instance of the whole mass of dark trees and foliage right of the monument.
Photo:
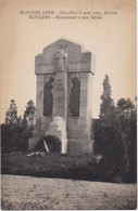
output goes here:
<path id="1" fill-rule="evenodd" d="M 136 106 L 129 98 L 120 98 L 114 106 L 108 76 L 101 100 L 100 118 L 95 120 L 96 154 L 102 155 L 111 181 L 136 182 Z"/>

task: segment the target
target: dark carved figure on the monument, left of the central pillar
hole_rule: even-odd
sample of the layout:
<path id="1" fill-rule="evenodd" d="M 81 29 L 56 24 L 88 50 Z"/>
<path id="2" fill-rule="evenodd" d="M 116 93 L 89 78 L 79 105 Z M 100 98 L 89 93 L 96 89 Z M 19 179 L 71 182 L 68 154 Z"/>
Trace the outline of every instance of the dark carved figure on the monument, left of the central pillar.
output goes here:
<path id="1" fill-rule="evenodd" d="M 50 79 L 45 84 L 45 92 L 43 92 L 43 116 L 52 115 L 52 107 L 53 107 L 53 94 L 52 94 L 52 82 L 54 78 L 50 76 Z"/>

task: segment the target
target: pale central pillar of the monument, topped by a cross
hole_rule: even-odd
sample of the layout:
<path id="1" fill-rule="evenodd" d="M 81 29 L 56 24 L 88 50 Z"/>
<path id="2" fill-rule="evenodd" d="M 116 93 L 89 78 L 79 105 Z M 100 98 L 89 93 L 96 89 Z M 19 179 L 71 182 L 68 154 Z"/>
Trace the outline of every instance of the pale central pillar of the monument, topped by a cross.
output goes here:
<path id="1" fill-rule="evenodd" d="M 63 50 L 55 53 L 55 71 L 53 82 L 53 110 L 49 130 L 46 135 L 53 134 L 61 140 L 62 151 L 67 153 L 66 116 L 67 116 L 67 55 Z"/>

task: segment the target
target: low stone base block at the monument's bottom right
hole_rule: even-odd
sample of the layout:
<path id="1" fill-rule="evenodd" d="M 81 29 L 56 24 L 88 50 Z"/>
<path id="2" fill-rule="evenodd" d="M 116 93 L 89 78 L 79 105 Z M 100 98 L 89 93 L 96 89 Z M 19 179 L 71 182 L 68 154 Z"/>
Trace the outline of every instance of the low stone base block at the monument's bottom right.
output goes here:
<path id="1" fill-rule="evenodd" d="M 67 154 L 68 155 L 83 155 L 92 154 L 95 140 L 67 140 Z"/>

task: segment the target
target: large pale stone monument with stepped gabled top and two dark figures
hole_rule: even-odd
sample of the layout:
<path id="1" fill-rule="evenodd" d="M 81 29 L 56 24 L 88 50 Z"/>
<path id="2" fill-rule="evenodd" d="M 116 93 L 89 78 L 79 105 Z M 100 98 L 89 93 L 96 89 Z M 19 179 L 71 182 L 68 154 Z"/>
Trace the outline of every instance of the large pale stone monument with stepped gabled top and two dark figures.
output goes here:
<path id="1" fill-rule="evenodd" d="M 92 151 L 93 68 L 95 56 L 66 39 L 59 39 L 36 56 L 36 128 L 29 149 L 41 136 L 54 135 L 61 141 L 63 154 Z"/>

